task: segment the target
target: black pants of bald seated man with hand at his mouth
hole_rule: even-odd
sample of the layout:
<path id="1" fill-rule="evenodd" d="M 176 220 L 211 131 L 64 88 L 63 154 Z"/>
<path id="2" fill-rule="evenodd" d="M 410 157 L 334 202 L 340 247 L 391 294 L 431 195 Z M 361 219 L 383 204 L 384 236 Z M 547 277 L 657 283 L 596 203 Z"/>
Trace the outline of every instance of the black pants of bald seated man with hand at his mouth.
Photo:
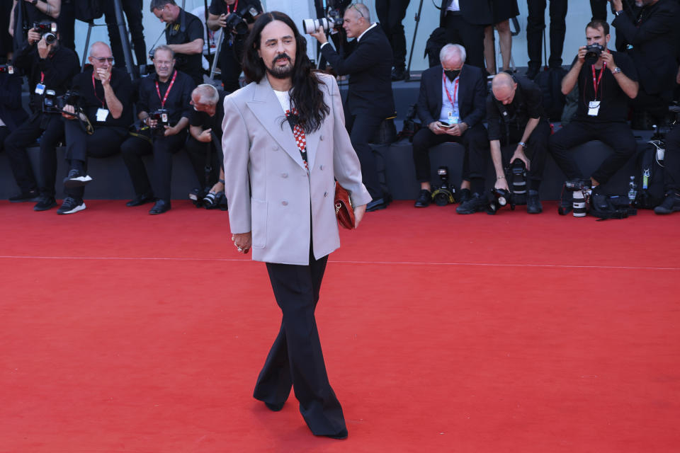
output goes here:
<path id="1" fill-rule="evenodd" d="M 94 134 L 88 135 L 79 121 L 64 119 L 66 134 L 66 159 L 81 161 L 83 170 L 87 171 L 87 158 L 113 156 L 120 151 L 120 145 L 128 138 L 128 131 L 124 127 L 98 127 Z M 70 166 L 70 165 L 69 165 Z M 84 187 L 64 188 L 64 193 L 76 200 L 83 200 Z"/>

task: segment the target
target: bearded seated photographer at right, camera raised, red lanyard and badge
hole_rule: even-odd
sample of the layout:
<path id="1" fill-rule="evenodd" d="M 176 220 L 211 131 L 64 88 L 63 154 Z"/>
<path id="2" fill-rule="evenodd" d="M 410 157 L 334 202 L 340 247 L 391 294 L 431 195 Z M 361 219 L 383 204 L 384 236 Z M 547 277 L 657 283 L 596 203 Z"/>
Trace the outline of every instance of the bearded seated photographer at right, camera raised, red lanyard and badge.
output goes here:
<path id="1" fill-rule="evenodd" d="M 628 125 L 628 101 L 638 96 L 638 76 L 628 55 L 607 50 L 609 24 L 591 21 L 586 26 L 588 46 L 579 53 L 570 71 L 562 79 L 565 96 L 578 84 L 579 103 L 574 120 L 550 136 L 550 154 L 567 176 L 567 180 L 582 179 L 581 171 L 570 149 L 591 140 L 600 140 L 613 150 L 590 177 L 593 192 L 601 193 L 619 168 L 635 154 L 636 144 Z M 562 197 L 562 210 L 572 208 L 571 192 Z"/>

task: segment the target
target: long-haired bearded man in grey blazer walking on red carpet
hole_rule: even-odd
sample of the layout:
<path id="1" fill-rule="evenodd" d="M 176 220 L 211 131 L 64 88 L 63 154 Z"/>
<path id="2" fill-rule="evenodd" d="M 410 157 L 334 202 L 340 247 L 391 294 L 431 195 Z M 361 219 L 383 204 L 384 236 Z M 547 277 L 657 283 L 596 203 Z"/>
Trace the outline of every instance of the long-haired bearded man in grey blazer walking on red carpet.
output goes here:
<path id="1" fill-rule="evenodd" d="M 344 128 L 333 77 L 312 71 L 307 42 L 283 13 L 263 14 L 245 44 L 251 84 L 225 98 L 222 149 L 229 227 L 241 253 L 264 261 L 280 331 L 254 397 L 280 411 L 290 394 L 314 435 L 347 437 L 328 381 L 314 309 L 328 255 L 339 247 L 335 179 L 361 221 L 370 195 Z"/>

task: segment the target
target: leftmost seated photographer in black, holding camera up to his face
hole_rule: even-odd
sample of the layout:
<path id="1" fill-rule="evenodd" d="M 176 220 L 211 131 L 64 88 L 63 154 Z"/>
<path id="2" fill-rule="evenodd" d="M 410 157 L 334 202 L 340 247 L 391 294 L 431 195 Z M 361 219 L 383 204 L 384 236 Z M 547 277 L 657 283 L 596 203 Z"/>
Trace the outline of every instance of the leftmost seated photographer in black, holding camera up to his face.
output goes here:
<path id="1" fill-rule="evenodd" d="M 75 52 L 60 46 L 57 38 L 52 32 L 41 35 L 38 28 L 32 28 L 28 31 L 28 40 L 14 59 L 14 66 L 28 74 L 31 114 L 5 139 L 9 163 L 21 189 L 21 193 L 11 197 L 10 201 L 38 201 L 33 208 L 36 211 L 55 205 L 55 148 L 64 137 L 60 96 L 66 93 L 73 77 L 80 71 Z M 38 138 L 42 173 L 40 193 L 26 151 Z"/>

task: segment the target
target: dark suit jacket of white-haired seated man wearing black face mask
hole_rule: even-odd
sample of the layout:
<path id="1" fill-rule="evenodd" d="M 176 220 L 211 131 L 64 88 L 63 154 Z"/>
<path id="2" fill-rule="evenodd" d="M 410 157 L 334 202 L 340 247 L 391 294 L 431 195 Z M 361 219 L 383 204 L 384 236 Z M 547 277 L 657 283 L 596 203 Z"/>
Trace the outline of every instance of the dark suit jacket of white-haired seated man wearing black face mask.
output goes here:
<path id="1" fill-rule="evenodd" d="M 441 81 L 443 69 L 441 64 L 426 69 L 420 79 L 420 94 L 418 96 L 418 116 L 423 125 L 429 125 L 439 120 L 441 113 Z M 458 84 L 458 111 L 460 122 L 468 127 L 480 124 L 486 113 L 487 86 L 482 69 L 464 64 L 460 70 Z"/>

